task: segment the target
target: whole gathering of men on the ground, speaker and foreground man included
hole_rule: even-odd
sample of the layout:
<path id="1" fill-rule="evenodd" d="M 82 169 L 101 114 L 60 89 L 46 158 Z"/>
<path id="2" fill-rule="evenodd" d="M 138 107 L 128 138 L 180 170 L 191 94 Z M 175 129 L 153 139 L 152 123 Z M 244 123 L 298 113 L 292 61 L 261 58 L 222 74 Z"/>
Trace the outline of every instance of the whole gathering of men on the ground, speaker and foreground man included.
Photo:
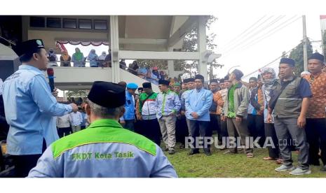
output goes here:
<path id="1" fill-rule="evenodd" d="M 83 106 L 88 129 L 58 140 L 55 117 L 79 109 L 55 100 L 57 92 L 41 72 L 47 64 L 41 40 L 14 50 L 22 65 L 4 81 L 2 92 L 8 153 L 18 177 L 177 177 L 163 150 L 174 155 L 180 143 L 179 148 L 190 148 L 189 155 L 203 149 L 210 156 L 214 130 L 224 154 L 240 150 L 223 143 L 231 139 L 248 158 L 269 140 L 275 146 L 267 147 L 264 160 L 277 160 L 275 171 L 309 174 L 309 165 L 320 165 L 320 158 L 326 171 L 326 72 L 319 53 L 308 59 L 311 74 L 305 78 L 294 76 L 293 59 L 282 58 L 278 76 L 266 67 L 250 83 L 241 80 L 238 69 L 210 80 L 209 88 L 199 74 L 172 86 L 158 80 L 159 93 L 151 83 L 95 82 Z M 251 137 L 259 138 L 257 147 L 247 145 Z M 297 167 L 292 150 L 299 153 Z"/>

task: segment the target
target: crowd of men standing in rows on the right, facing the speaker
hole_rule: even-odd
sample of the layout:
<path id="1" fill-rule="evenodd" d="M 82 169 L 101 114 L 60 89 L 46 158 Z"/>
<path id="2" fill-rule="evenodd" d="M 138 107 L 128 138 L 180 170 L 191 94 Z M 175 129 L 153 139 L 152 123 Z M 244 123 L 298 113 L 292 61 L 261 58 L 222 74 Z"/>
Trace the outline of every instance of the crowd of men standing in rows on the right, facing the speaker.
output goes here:
<path id="1" fill-rule="evenodd" d="M 147 136 L 160 145 L 161 137 L 165 151 L 175 154 L 175 144 L 185 148 L 190 136 L 189 155 L 199 153 L 199 136 L 203 139 L 203 152 L 212 155 L 209 140 L 212 131 L 217 131 L 218 144 L 224 154 L 238 153 L 238 146 L 226 146 L 223 140 L 240 139 L 248 158 L 254 157 L 254 148 L 266 145 L 269 156 L 281 164 L 276 171 L 290 171 L 293 175 L 309 174 L 309 165 L 320 166 L 326 171 L 326 73 L 324 57 L 314 53 L 308 59 L 310 74 L 304 78 L 294 76 L 295 62 L 290 58 L 280 59 L 279 74 L 266 67 L 249 83 L 241 80 L 243 73 L 234 70 L 225 78 L 210 80 L 209 88 L 203 86 L 204 78 L 186 78 L 182 85 L 169 87 L 167 80 L 160 80 L 160 93 L 151 90 L 151 83 L 139 88 L 135 83 L 123 83 L 126 92 L 128 120 L 121 123 L 125 128 Z M 131 101 L 131 102 L 129 102 Z M 128 113 L 127 113 L 128 112 Z M 136 127 L 134 127 L 136 125 Z M 259 147 L 246 145 L 257 139 Z M 205 140 L 208 138 L 208 140 Z M 189 142 L 189 141 L 188 141 Z M 297 168 L 292 165 L 292 150 L 299 153 Z"/>

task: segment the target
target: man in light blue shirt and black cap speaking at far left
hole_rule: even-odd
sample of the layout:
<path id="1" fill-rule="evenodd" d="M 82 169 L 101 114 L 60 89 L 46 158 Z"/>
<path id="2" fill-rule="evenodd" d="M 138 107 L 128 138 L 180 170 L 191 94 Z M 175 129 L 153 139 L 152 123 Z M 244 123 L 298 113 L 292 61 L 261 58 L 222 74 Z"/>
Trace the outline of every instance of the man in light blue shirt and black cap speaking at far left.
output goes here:
<path id="1" fill-rule="evenodd" d="M 41 40 L 29 40 L 14 48 L 22 65 L 4 82 L 6 121 L 10 125 L 8 154 L 13 155 L 17 177 L 27 176 L 46 146 L 59 137 L 55 116 L 78 110 L 75 104 L 57 103 L 43 71 L 48 59 Z M 43 147 L 43 148 L 42 148 Z"/>

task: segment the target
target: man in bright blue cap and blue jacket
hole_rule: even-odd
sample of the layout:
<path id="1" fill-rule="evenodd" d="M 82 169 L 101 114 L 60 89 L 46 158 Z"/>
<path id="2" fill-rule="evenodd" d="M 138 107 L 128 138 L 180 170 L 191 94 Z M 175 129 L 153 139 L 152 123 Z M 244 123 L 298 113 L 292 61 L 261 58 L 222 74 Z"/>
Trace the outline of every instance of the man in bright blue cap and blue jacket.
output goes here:
<path id="1" fill-rule="evenodd" d="M 125 92 L 125 114 L 120 118 L 120 123 L 123 128 L 135 131 L 135 92 L 138 85 L 135 83 L 129 83 L 127 85 L 127 91 Z"/>

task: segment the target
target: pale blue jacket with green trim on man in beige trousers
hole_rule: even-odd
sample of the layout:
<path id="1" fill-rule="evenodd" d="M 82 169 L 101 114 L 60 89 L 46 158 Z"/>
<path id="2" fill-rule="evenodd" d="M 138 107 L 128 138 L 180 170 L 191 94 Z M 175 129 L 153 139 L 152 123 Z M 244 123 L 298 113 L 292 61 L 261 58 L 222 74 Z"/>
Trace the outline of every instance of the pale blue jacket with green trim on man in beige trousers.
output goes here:
<path id="1" fill-rule="evenodd" d="M 159 93 L 156 97 L 157 110 L 156 117 L 161 119 L 162 116 L 168 116 L 172 113 L 177 115 L 177 112 L 181 108 L 179 96 L 170 90 L 165 93 Z"/>

